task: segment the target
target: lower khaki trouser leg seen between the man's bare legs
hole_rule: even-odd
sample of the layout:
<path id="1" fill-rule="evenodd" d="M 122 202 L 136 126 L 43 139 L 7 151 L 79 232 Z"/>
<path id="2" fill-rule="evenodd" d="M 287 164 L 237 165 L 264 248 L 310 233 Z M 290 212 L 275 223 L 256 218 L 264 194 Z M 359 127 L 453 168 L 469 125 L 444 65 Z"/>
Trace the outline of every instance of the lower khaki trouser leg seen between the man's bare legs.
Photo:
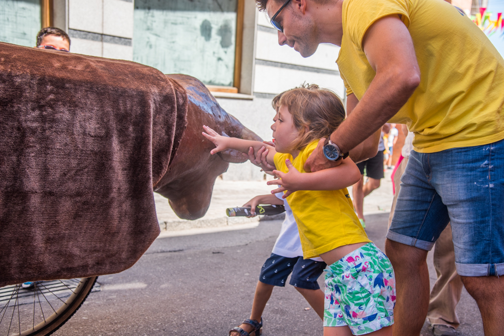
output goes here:
<path id="1" fill-rule="evenodd" d="M 452 227 L 447 225 L 434 244 L 434 268 L 437 280 L 430 292 L 427 319 L 435 336 L 455 336 L 460 324 L 455 311 L 462 293 L 462 279 L 455 267 Z"/>

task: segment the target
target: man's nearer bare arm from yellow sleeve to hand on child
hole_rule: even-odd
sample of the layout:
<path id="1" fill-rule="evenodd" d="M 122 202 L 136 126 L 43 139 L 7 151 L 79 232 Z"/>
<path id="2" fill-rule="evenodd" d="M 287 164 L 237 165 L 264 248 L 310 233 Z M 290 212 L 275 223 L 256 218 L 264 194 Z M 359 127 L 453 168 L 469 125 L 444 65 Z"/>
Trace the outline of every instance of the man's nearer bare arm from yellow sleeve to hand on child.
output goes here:
<path id="1" fill-rule="evenodd" d="M 408 101 L 420 83 L 413 41 L 397 15 L 372 24 L 364 35 L 363 48 L 376 75 L 352 113 L 331 135 L 331 141 L 343 153 L 379 130 Z M 311 160 L 308 158 L 306 162 L 310 163 L 309 171 L 331 166 L 332 162 L 325 159 L 322 148 L 317 148 L 314 153 L 316 157 L 310 156 Z"/>

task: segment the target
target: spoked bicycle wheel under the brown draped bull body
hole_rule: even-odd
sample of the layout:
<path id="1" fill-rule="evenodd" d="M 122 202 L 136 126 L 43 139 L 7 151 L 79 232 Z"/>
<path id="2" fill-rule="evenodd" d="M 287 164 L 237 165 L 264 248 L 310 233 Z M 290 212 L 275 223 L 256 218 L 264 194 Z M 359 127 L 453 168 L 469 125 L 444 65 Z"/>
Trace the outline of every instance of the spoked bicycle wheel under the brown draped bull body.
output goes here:
<path id="1" fill-rule="evenodd" d="M 0 336 L 50 335 L 79 309 L 98 277 L 0 288 Z"/>

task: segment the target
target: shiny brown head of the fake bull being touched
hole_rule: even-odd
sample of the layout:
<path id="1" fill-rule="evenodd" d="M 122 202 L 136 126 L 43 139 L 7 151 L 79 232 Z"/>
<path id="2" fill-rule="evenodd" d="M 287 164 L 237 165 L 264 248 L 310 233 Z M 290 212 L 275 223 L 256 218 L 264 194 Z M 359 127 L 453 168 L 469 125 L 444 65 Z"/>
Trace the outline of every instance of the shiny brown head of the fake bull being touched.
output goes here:
<path id="1" fill-rule="evenodd" d="M 262 139 L 227 114 L 198 79 L 181 74 L 168 77 L 177 80 L 187 91 L 187 124 L 176 154 L 154 191 L 169 199 L 180 218 L 198 219 L 207 212 L 215 179 L 227 171 L 229 162 L 246 161 L 236 150 L 211 155 L 210 150 L 215 146 L 201 134 L 203 125 L 230 137 Z"/>

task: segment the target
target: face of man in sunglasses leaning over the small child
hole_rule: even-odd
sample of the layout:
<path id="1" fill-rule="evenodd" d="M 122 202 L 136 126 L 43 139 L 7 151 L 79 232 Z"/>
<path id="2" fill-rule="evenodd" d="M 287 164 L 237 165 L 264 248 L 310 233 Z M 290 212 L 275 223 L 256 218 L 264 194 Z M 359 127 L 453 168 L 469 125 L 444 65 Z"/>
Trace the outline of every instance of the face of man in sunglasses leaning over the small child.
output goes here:
<path id="1" fill-rule="evenodd" d="M 275 20 L 283 27 L 283 33 L 278 31 L 278 44 L 287 44 L 301 56 L 308 57 L 319 47 L 317 27 L 306 11 L 302 13 L 300 4 L 300 0 L 291 0 L 276 17 Z M 310 4 L 308 2 L 308 5 Z M 282 5 L 275 0 L 269 0 L 266 4 L 268 17 L 272 18 Z"/>

